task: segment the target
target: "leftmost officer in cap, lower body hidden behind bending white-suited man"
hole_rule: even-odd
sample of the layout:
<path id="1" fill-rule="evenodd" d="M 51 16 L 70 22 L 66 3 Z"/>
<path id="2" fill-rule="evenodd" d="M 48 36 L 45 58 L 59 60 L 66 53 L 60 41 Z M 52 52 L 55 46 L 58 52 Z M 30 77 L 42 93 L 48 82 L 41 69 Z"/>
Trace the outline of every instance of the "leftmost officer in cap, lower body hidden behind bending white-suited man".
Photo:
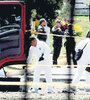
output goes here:
<path id="1" fill-rule="evenodd" d="M 46 23 L 46 20 L 44 18 L 40 19 L 37 32 L 38 33 L 43 33 L 43 34 L 38 34 L 37 38 L 39 40 L 42 40 L 42 41 L 46 42 L 47 41 L 47 33 L 50 33 L 50 28 L 48 27 L 48 30 L 47 30 L 47 23 Z"/>

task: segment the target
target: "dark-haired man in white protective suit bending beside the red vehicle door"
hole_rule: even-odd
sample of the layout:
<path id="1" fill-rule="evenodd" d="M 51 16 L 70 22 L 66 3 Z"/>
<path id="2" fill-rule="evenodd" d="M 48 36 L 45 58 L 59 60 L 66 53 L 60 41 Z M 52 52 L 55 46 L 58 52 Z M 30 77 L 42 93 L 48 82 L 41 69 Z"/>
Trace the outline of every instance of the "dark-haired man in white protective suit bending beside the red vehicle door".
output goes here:
<path id="1" fill-rule="evenodd" d="M 42 71 L 45 72 L 46 82 L 52 82 L 52 74 L 51 74 L 51 57 L 50 57 L 50 48 L 49 46 L 34 37 L 29 38 L 30 41 L 30 49 L 29 55 L 27 59 L 27 63 L 31 63 L 33 59 L 33 55 L 36 57 L 36 66 L 34 70 L 33 82 L 40 81 L 40 74 Z M 43 66 L 46 65 L 46 66 Z M 38 86 L 34 86 L 32 89 L 33 93 L 38 92 Z M 53 89 L 51 86 L 48 86 L 48 93 L 53 93 Z"/>

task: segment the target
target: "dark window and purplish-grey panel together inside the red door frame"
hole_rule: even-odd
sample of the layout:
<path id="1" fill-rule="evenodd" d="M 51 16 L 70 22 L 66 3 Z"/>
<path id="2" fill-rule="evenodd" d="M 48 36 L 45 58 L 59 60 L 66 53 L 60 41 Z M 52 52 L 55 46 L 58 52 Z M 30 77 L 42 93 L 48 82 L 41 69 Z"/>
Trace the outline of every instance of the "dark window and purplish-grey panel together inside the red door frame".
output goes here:
<path id="1" fill-rule="evenodd" d="M 0 5 L 0 60 L 21 54 L 21 6 Z"/>

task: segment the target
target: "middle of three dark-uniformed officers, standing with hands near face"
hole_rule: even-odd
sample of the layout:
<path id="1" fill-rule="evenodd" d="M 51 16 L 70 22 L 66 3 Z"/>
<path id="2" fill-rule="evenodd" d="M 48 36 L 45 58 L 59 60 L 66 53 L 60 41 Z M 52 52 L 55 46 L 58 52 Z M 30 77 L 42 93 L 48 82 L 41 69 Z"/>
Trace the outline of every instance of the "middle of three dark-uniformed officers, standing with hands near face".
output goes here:
<path id="1" fill-rule="evenodd" d="M 57 64 L 57 59 L 60 55 L 62 47 L 62 37 L 56 35 L 64 35 L 64 27 L 60 21 L 56 22 L 56 25 L 52 28 L 53 36 L 53 64 Z"/>

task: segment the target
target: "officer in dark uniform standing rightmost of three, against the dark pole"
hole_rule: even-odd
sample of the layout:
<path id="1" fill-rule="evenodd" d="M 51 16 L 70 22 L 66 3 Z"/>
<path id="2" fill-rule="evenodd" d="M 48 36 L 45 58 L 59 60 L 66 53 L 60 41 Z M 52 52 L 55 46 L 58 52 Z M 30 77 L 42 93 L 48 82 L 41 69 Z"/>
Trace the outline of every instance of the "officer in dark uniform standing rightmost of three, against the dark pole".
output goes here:
<path id="1" fill-rule="evenodd" d="M 71 32 L 71 25 L 69 25 L 67 27 L 68 32 L 66 33 L 68 37 L 66 37 L 66 42 L 65 42 L 65 47 L 66 47 L 66 56 L 67 56 L 67 63 L 68 65 L 71 65 L 71 59 L 73 59 L 73 64 L 77 65 L 77 61 L 75 60 L 75 46 L 76 46 L 76 42 L 74 37 L 75 36 L 73 34 L 73 32 Z M 72 57 L 71 57 L 72 55 Z"/>

